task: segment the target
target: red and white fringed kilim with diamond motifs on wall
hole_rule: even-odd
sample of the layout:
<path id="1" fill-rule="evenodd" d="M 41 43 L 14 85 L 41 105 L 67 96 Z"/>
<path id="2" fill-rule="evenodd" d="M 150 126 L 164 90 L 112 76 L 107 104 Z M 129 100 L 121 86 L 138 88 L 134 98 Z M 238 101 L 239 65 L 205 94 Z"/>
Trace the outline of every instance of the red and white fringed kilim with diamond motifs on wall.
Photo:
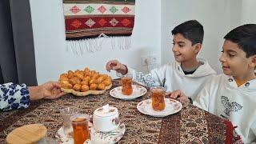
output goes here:
<path id="1" fill-rule="evenodd" d="M 63 0 L 68 49 L 76 53 L 112 48 L 128 49 L 134 28 L 135 0 Z"/>

